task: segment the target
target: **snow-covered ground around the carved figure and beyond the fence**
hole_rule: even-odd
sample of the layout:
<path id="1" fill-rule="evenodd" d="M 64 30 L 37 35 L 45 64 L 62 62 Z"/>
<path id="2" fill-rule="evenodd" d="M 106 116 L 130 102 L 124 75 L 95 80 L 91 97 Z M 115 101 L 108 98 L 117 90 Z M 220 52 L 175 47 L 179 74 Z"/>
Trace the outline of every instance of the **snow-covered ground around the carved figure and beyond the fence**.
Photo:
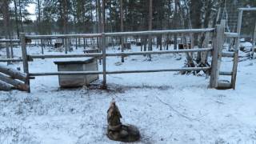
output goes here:
<path id="1" fill-rule="evenodd" d="M 39 47 L 28 50 L 40 54 Z M 19 49 L 14 52 L 21 54 Z M 82 48 L 73 53 L 82 53 Z M 57 53 L 48 48 L 46 54 Z M 149 62 L 130 56 L 121 65 L 121 58 L 107 58 L 107 70 L 179 68 L 184 58 L 153 55 Z M 56 71 L 53 61 L 34 60 L 30 72 Z M 231 59 L 223 61 L 222 70 L 230 69 Z M 239 62 L 236 90 L 208 89 L 206 76 L 172 72 L 107 75 L 108 90 L 62 90 L 57 76 L 37 77 L 31 80 L 30 94 L 0 92 L 0 143 L 120 143 L 106 137 L 106 110 L 112 98 L 122 122 L 138 126 L 142 139 L 136 143 L 255 143 L 255 65 L 255 60 Z M 18 66 L 21 63 L 13 65 Z"/>

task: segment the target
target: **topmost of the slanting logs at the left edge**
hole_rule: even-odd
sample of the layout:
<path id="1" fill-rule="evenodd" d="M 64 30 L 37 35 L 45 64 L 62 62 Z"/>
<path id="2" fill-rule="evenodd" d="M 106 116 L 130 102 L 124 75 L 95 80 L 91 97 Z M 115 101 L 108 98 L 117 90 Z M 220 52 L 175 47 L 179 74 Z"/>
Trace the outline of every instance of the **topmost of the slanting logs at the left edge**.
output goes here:
<path id="1" fill-rule="evenodd" d="M 23 82 L 26 81 L 27 74 L 23 74 L 18 70 L 14 70 L 8 66 L 0 65 L 0 72 L 3 74 L 10 75 L 11 78 L 19 79 Z"/>

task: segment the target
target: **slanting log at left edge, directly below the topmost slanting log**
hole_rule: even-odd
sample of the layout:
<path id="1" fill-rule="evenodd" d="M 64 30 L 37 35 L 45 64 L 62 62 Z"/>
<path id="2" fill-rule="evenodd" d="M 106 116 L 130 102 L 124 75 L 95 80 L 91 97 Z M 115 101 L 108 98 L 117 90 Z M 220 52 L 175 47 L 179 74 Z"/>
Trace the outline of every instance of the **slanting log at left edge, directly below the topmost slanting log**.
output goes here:
<path id="1" fill-rule="evenodd" d="M 29 86 L 25 85 L 24 83 L 22 82 L 18 82 L 17 80 L 15 79 L 12 79 L 12 78 L 9 78 L 7 77 L 6 75 L 4 74 L 0 74 L 0 80 L 2 82 L 6 82 L 10 85 L 13 85 L 16 89 L 18 90 L 23 90 L 23 91 L 27 91 L 29 90 Z"/>

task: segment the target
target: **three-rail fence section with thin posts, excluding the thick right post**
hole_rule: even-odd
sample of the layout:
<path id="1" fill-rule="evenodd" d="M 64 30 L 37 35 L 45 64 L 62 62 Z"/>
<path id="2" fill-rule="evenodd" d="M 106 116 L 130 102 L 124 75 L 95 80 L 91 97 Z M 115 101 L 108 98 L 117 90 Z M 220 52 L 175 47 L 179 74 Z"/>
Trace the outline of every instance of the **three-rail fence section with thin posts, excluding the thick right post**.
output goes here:
<path id="1" fill-rule="evenodd" d="M 128 74 L 128 73 L 151 73 L 164 71 L 187 71 L 187 70 L 210 70 L 211 67 L 192 67 L 192 68 L 178 68 L 178 69 L 162 69 L 162 70 L 121 70 L 109 71 L 106 70 L 106 57 L 113 56 L 129 56 L 129 55 L 145 55 L 145 54 L 174 54 L 174 53 L 188 53 L 188 52 L 205 52 L 212 51 L 212 48 L 201 48 L 191 50 L 162 50 L 162 51 L 142 51 L 142 52 L 119 52 L 106 53 L 106 37 L 115 36 L 141 36 L 141 35 L 155 35 L 155 34 L 190 34 L 190 33 L 205 33 L 214 32 L 215 29 L 194 29 L 194 30 L 153 30 L 153 31 L 138 31 L 138 32 L 118 32 L 118 33 L 102 33 L 102 34 L 59 34 L 59 35 L 27 35 L 22 34 L 22 54 L 24 72 L 32 77 L 46 76 L 46 75 L 80 75 L 80 74 L 103 74 L 102 85 L 106 86 L 106 74 Z M 60 54 L 60 55 L 28 55 L 26 53 L 26 39 L 43 39 L 43 38 L 102 38 L 102 52 L 94 54 Z M 102 71 L 65 71 L 54 73 L 30 73 L 28 68 L 28 60 L 34 58 L 83 58 L 96 57 L 102 58 Z"/>

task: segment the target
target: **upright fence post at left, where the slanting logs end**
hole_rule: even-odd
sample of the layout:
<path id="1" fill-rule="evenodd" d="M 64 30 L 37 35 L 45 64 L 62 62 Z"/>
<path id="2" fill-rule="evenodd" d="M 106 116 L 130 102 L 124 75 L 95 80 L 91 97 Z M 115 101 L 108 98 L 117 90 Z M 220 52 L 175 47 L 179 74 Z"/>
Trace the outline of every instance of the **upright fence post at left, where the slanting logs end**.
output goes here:
<path id="1" fill-rule="evenodd" d="M 25 37 L 25 33 L 21 33 L 20 36 L 21 36 L 21 42 L 22 42 L 23 71 L 27 75 L 25 84 L 27 86 L 29 86 L 28 92 L 30 93 L 29 62 L 28 62 L 28 57 L 27 57 L 27 52 L 26 52 L 26 37 Z"/>

